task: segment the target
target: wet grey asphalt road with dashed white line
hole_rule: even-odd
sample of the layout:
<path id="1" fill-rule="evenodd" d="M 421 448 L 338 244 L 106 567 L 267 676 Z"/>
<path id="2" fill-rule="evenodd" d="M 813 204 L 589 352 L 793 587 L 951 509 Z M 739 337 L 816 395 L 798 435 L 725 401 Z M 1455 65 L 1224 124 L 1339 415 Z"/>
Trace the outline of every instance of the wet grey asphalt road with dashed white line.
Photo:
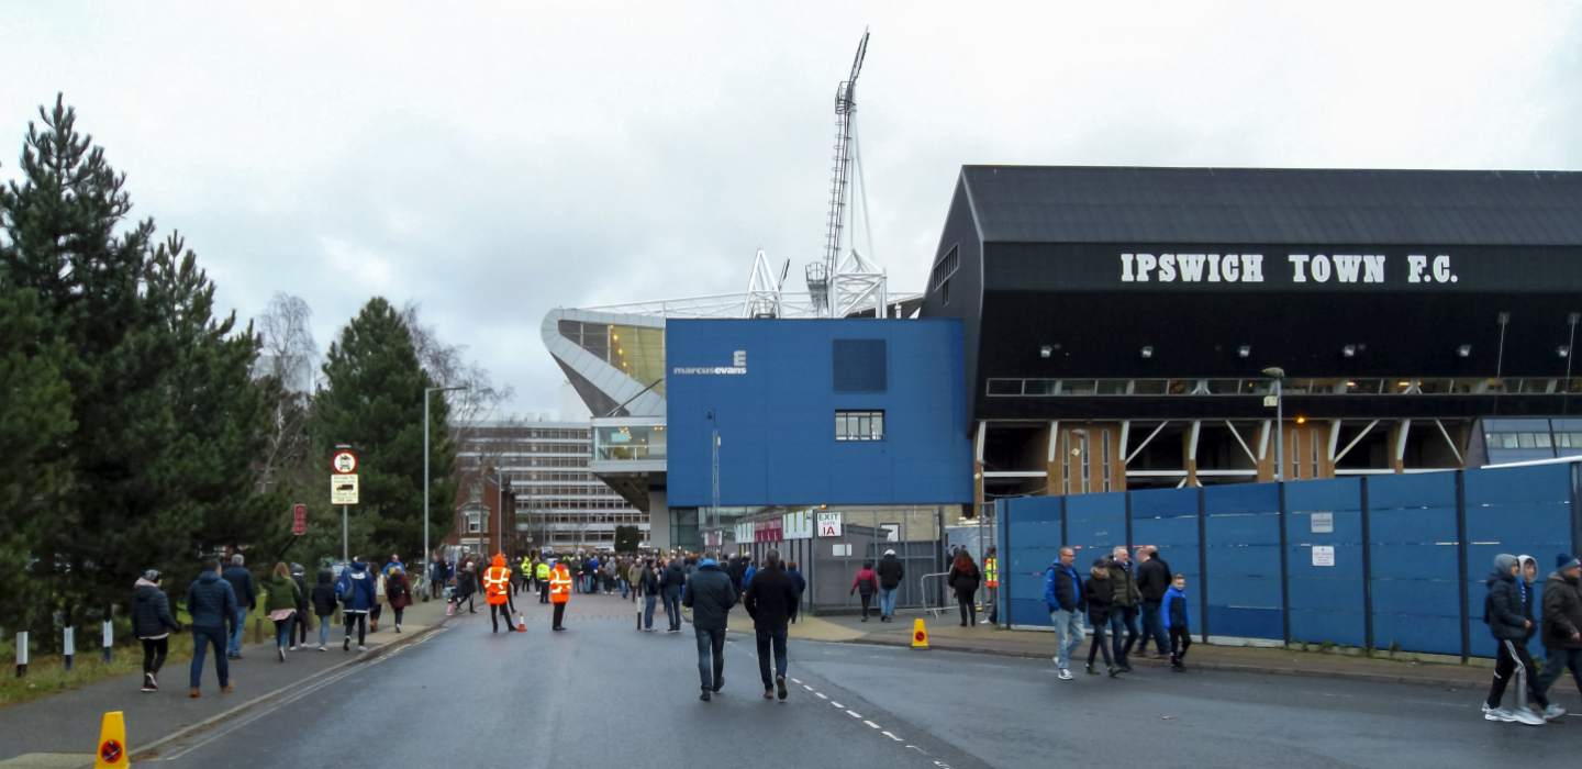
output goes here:
<path id="1" fill-rule="evenodd" d="M 1573 766 L 1582 747 L 1582 718 L 1484 722 L 1482 691 L 1141 668 L 1062 682 L 1047 660 L 797 641 L 791 698 L 766 701 L 750 638 L 728 644 L 725 691 L 701 703 L 690 625 L 638 633 L 631 619 L 611 619 L 630 617 L 628 603 L 577 597 L 565 633 L 536 611 L 527 635 L 492 635 L 481 614 L 452 620 L 160 758 L 282 769 L 457 760 L 1043 769 L 1156 756 L 1172 769 L 1443 769 Z"/>

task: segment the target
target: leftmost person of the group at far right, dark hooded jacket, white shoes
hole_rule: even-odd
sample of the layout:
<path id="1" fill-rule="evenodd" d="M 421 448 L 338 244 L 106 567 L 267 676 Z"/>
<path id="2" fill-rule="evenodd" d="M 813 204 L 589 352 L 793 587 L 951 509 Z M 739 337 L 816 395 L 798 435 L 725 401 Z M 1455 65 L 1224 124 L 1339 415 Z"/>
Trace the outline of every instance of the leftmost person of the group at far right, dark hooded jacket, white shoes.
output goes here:
<path id="1" fill-rule="evenodd" d="M 1527 707 L 1527 696 L 1531 696 L 1539 707 L 1549 709 L 1549 698 L 1538 690 L 1538 679 L 1533 677 L 1533 657 L 1527 652 L 1527 639 L 1531 638 L 1533 612 L 1528 601 L 1528 587 L 1520 576 L 1520 563 L 1516 555 L 1500 554 L 1493 557 L 1493 573 L 1489 574 L 1489 595 L 1484 598 L 1484 622 L 1489 633 L 1498 644 L 1500 652 L 1493 663 L 1493 684 L 1489 687 L 1489 698 L 1484 701 L 1484 718 L 1490 722 L 1519 722 L 1531 726 L 1542 726 L 1544 717 Z M 1500 707 L 1504 699 L 1504 688 L 1516 677 L 1516 707 Z M 1523 691 L 1527 690 L 1527 691 Z"/>

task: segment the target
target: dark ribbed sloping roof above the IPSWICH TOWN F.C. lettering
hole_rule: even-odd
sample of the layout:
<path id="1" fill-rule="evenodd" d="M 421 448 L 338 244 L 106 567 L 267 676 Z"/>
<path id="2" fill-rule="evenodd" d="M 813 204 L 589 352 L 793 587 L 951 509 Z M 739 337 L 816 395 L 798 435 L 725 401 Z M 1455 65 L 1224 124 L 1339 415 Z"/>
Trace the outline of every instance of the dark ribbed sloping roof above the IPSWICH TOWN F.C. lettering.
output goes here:
<path id="1" fill-rule="evenodd" d="M 1579 245 L 1582 172 L 962 166 L 986 242 Z"/>

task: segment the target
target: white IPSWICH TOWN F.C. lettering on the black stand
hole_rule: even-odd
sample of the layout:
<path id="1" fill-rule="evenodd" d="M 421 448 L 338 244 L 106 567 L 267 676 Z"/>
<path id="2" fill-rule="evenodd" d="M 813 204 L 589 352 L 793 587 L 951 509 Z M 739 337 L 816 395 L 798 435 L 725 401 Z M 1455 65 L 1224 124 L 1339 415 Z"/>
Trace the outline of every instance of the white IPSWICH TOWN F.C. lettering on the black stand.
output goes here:
<path id="1" fill-rule="evenodd" d="M 1383 253 L 1289 253 L 1278 277 L 1288 283 L 1384 283 L 1394 271 L 1406 283 L 1459 283 L 1451 256 L 1408 253 L 1391 259 Z M 1394 263 L 1394 264 L 1392 264 Z M 1122 283 L 1264 283 L 1262 253 L 1122 253 Z"/>

